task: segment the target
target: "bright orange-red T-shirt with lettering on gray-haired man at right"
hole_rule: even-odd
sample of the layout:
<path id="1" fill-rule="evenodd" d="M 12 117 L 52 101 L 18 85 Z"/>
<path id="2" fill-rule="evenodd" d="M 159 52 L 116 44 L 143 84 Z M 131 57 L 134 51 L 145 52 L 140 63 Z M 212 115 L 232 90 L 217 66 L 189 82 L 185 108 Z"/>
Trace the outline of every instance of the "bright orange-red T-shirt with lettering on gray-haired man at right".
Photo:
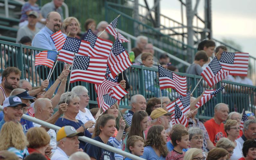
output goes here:
<path id="1" fill-rule="evenodd" d="M 205 128 L 209 134 L 210 140 L 213 142 L 214 146 L 223 137 L 226 137 L 224 131 L 224 124 L 216 124 L 215 120 L 212 118 L 205 122 Z"/>

